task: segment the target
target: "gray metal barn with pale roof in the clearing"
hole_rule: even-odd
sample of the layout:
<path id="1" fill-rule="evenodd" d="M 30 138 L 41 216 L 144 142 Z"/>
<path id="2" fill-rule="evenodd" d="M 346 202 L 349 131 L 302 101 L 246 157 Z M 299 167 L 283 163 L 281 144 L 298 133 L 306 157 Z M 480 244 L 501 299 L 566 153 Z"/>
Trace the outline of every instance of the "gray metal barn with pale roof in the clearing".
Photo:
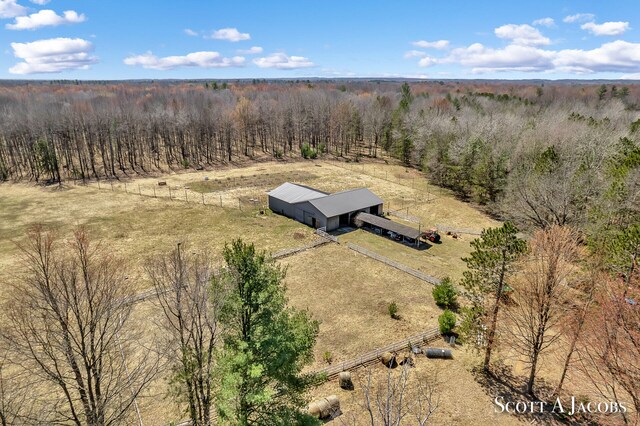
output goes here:
<path id="1" fill-rule="evenodd" d="M 382 200 L 366 188 L 327 194 L 286 182 L 268 195 L 273 212 L 327 231 L 351 225 L 355 215 L 361 212 L 382 214 Z"/>

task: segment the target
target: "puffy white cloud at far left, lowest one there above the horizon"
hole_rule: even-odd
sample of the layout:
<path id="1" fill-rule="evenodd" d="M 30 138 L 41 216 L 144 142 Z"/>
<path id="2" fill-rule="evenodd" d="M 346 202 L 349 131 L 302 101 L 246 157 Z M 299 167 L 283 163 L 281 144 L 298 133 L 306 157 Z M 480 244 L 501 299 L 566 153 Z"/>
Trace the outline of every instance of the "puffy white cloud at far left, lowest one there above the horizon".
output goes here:
<path id="1" fill-rule="evenodd" d="M 12 74 L 58 73 L 88 69 L 98 62 L 93 45 L 80 38 L 52 38 L 31 43 L 11 43 L 13 55 L 22 59 L 9 68 Z"/>

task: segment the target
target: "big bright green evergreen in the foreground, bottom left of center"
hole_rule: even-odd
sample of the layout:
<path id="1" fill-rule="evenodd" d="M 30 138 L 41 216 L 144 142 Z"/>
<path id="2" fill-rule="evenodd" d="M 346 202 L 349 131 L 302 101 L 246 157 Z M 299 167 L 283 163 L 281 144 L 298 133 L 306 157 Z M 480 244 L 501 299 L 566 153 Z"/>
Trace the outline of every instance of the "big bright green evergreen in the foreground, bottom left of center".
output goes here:
<path id="1" fill-rule="evenodd" d="M 221 317 L 220 420 L 242 426 L 313 424 L 301 408 L 316 378 L 301 370 L 311 361 L 318 322 L 287 307 L 286 271 L 268 254 L 235 240 L 223 255 L 228 271 L 216 286 L 228 286 L 231 296 Z"/>

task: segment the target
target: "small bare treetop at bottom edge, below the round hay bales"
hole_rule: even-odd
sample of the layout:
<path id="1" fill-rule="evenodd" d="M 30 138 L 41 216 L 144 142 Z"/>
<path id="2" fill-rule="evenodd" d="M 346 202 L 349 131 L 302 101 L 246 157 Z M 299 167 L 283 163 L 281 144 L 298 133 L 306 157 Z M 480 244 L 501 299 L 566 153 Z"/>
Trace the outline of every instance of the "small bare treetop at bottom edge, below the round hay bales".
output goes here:
<path id="1" fill-rule="evenodd" d="M 437 379 L 411 376 L 408 364 L 397 370 L 388 369 L 378 378 L 374 378 L 371 370 L 367 371 L 360 386 L 364 394 L 362 405 L 371 426 L 399 426 L 409 419 L 420 426 L 429 422 L 439 404 Z"/>

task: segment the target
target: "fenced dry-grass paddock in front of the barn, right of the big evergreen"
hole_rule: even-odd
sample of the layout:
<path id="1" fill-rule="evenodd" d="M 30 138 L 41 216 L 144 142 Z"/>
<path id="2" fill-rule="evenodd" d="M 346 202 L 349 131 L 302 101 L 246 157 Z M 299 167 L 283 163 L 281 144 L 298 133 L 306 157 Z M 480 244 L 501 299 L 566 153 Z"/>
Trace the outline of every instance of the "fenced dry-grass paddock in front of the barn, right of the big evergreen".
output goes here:
<path id="1" fill-rule="evenodd" d="M 290 303 L 320 320 L 315 364 L 326 365 L 402 340 L 437 326 L 441 310 L 431 285 L 356 253 L 343 245 L 325 245 L 282 261 L 288 265 Z M 399 320 L 388 306 L 398 305 Z"/>

